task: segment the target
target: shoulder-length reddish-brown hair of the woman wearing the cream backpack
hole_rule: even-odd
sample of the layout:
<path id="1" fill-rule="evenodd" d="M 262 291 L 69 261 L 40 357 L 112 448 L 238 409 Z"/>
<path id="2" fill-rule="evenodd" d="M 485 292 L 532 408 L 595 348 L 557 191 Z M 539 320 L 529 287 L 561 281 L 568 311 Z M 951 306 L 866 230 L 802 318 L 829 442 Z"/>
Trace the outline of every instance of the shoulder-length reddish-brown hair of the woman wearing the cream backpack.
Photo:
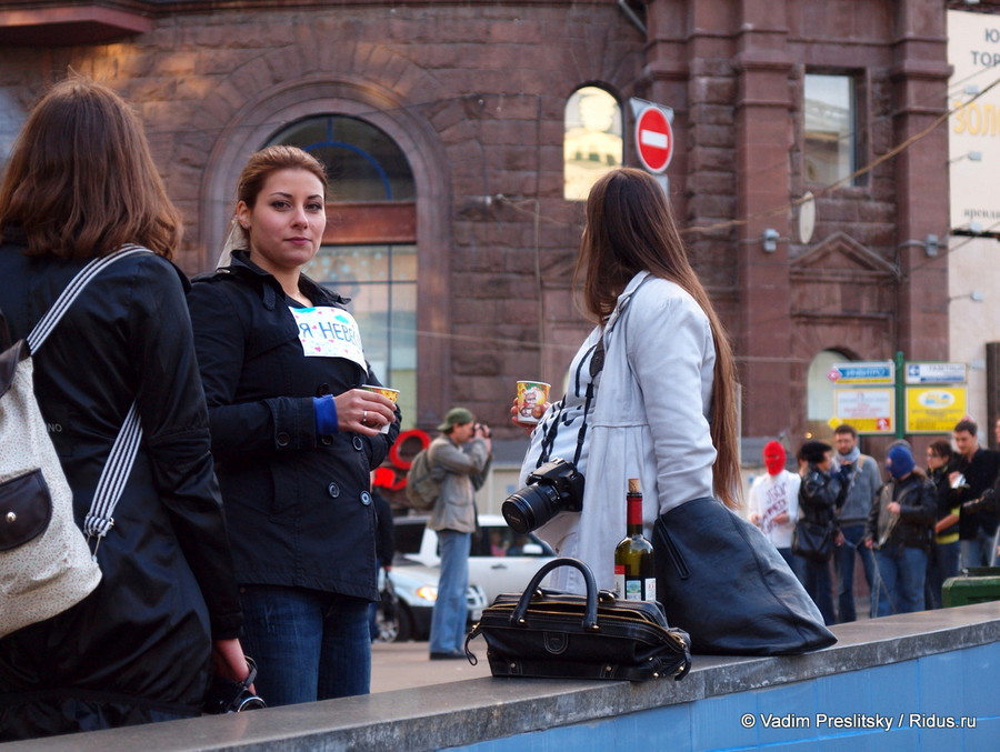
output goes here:
<path id="1" fill-rule="evenodd" d="M 28 117 L 0 182 L 0 228 L 19 225 L 29 255 L 106 255 L 139 243 L 171 258 L 180 213 L 138 118 L 109 88 L 72 73 Z"/>

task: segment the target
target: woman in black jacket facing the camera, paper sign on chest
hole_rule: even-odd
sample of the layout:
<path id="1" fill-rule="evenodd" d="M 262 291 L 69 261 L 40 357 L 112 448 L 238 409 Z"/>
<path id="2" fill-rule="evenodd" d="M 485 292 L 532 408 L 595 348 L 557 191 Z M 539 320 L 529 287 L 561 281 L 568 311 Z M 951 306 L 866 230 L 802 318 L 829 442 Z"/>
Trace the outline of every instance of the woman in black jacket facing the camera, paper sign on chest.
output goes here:
<path id="1" fill-rule="evenodd" d="M 364 694 L 379 598 L 369 473 L 399 433 L 347 302 L 302 274 L 326 227 L 322 166 L 251 156 L 228 267 L 188 295 L 247 652 L 270 705 Z M 381 433 L 386 428 L 387 432 Z"/>

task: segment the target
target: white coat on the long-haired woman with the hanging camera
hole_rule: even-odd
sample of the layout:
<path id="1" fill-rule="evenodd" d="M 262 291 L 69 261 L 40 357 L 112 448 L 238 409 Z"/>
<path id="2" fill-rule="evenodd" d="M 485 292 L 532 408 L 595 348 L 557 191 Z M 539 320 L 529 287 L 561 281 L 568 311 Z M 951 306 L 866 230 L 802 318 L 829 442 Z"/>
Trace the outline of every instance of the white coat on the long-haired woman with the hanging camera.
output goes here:
<path id="1" fill-rule="evenodd" d="M 589 355 L 600 335 L 601 329 L 594 329 L 573 359 L 563 414 L 582 411 Z M 583 510 L 556 515 L 538 533 L 559 555 L 587 562 L 598 588 L 611 590 L 614 548 L 626 534 L 629 478 L 641 481 L 650 539 L 657 517 L 713 495 L 709 414 L 716 349 L 708 317 L 694 299 L 648 272 L 626 287 L 603 335 L 604 367 L 596 380 L 578 463 L 586 478 Z M 522 484 L 560 407 L 553 403 L 532 433 Z M 552 457 L 572 460 L 569 439 L 562 439 L 557 443 L 562 451 Z M 570 443 L 576 444 L 574 431 Z M 583 592 L 582 578 L 571 568 L 557 570 L 551 586 Z"/>

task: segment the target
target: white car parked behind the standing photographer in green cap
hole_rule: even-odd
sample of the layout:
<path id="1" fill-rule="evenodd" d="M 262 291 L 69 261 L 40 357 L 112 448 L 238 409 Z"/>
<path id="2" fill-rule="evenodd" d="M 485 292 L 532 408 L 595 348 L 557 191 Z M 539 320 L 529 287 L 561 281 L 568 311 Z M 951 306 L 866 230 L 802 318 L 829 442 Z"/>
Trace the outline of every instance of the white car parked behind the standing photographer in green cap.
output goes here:
<path id="1" fill-rule="evenodd" d="M 427 517 L 398 517 L 393 523 L 398 554 L 440 566 L 438 533 L 427 527 Z M 480 514 L 479 527 L 469 557 L 469 582 L 486 592 L 487 603 L 500 593 L 522 592 L 542 564 L 556 557 L 534 533 L 519 535 L 499 514 Z"/>

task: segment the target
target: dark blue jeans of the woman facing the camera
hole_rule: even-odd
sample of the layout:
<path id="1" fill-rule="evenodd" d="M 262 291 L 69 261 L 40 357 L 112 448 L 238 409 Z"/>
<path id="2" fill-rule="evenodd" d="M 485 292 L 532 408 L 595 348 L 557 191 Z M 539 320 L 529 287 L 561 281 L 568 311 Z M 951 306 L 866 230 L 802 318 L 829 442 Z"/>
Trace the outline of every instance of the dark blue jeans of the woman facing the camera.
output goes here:
<path id="1" fill-rule="evenodd" d="M 368 694 L 368 601 L 304 588 L 243 585 L 247 655 L 269 706 Z"/>

